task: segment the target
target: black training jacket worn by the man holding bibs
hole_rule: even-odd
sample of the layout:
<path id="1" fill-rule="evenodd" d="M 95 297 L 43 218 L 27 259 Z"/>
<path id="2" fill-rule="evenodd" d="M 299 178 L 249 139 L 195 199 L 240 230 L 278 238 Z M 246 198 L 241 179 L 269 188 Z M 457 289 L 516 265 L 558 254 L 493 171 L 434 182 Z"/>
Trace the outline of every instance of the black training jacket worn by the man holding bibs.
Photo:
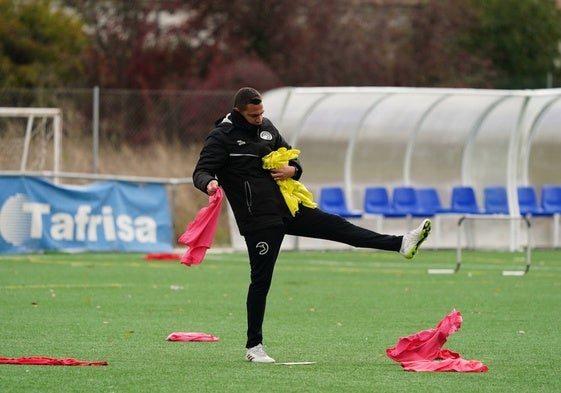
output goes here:
<path id="1" fill-rule="evenodd" d="M 205 140 L 193 172 L 195 187 L 206 193 L 207 184 L 218 180 L 242 235 L 282 225 L 283 219 L 291 216 L 290 211 L 261 159 L 280 147 L 291 147 L 267 118 L 254 126 L 232 111 L 216 125 Z M 300 163 L 293 160 L 290 165 L 297 167 L 294 178 L 299 179 Z"/>

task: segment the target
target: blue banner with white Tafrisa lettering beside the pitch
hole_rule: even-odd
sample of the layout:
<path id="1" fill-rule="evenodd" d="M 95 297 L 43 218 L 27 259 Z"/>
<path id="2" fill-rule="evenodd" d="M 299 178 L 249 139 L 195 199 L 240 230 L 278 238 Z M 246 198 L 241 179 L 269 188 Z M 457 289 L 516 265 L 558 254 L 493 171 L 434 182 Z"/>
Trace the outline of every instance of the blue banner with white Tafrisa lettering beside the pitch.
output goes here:
<path id="1" fill-rule="evenodd" d="M 0 176 L 0 253 L 167 252 L 171 236 L 163 184 Z"/>

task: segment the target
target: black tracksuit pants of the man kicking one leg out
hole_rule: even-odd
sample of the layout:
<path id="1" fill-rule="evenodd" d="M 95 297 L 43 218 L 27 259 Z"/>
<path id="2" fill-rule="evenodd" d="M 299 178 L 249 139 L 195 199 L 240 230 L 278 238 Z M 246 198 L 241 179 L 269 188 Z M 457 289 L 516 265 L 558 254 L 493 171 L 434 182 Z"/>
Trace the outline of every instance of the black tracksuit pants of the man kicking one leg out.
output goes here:
<path id="1" fill-rule="evenodd" d="M 319 209 L 300 205 L 296 217 L 284 226 L 247 233 L 245 242 L 251 267 L 247 293 L 247 343 L 254 347 L 263 341 L 263 318 L 273 270 L 285 235 L 332 240 L 354 247 L 399 251 L 402 236 L 384 235 L 356 226 L 349 221 Z"/>

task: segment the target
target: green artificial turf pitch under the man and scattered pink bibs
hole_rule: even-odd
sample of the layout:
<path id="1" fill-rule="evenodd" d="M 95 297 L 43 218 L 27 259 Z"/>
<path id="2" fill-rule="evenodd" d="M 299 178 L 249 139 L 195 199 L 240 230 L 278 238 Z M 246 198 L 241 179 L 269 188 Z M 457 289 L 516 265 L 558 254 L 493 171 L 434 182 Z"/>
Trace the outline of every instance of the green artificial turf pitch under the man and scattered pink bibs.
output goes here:
<path id="1" fill-rule="evenodd" d="M 284 252 L 269 294 L 264 345 L 285 366 L 245 354 L 248 263 L 209 253 L 200 266 L 141 254 L 0 256 L 0 356 L 108 366 L 0 365 L 2 392 L 558 392 L 561 252 L 453 251 L 407 261 L 388 252 Z M 413 373 L 385 356 L 452 309 L 446 348 L 486 373 Z M 217 343 L 165 340 L 203 332 Z"/>

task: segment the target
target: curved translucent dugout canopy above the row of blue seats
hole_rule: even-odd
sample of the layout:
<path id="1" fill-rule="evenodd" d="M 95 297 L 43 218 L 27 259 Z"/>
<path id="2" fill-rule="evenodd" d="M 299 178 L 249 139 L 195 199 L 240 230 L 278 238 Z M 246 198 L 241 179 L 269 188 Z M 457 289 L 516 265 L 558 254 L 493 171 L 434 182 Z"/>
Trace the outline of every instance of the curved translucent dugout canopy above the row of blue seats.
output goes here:
<path id="1" fill-rule="evenodd" d="M 281 88 L 265 116 L 301 150 L 306 184 L 504 185 L 561 183 L 561 89 Z M 349 198 L 351 200 L 352 198 Z M 481 200 L 481 199 L 480 199 Z"/>

